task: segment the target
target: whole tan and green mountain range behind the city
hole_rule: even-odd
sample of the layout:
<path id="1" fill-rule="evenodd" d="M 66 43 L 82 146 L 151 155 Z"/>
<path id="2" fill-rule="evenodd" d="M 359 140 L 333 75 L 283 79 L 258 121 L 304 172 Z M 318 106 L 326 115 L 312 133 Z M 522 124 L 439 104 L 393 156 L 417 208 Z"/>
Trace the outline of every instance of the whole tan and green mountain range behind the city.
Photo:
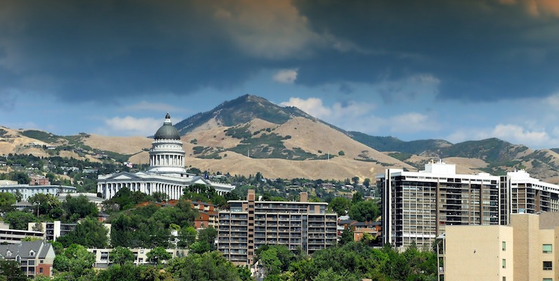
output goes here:
<path id="1" fill-rule="evenodd" d="M 345 131 L 296 107 L 281 107 L 264 98 L 244 95 L 208 112 L 175 124 L 181 133 L 187 165 L 223 174 L 248 176 L 260 171 L 270 178 L 343 180 L 374 178 L 386 168 L 423 169 L 430 159 L 456 164 L 461 174 L 506 174 L 526 169 L 532 176 L 559 183 L 559 149 L 532 150 L 498 138 L 449 143 L 428 139 L 401 141 L 391 136 L 369 136 Z M 54 144 L 60 155 L 99 161 L 148 163 L 150 138 L 111 137 L 80 133 L 55 136 L 37 130 L 0 131 L 0 152 L 52 155 L 37 148 Z M 126 144 L 126 145 L 123 145 Z M 39 146 L 40 146 L 39 145 Z"/>

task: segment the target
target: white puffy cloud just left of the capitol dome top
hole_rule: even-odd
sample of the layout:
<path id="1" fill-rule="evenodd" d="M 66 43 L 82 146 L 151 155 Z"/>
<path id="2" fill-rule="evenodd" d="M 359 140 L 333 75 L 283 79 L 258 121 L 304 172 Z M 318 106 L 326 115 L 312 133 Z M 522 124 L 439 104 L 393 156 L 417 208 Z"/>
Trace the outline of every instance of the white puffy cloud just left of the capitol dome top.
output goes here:
<path id="1" fill-rule="evenodd" d="M 131 116 L 105 119 L 106 127 L 98 131 L 111 136 L 151 136 L 162 126 L 162 119 Z"/>

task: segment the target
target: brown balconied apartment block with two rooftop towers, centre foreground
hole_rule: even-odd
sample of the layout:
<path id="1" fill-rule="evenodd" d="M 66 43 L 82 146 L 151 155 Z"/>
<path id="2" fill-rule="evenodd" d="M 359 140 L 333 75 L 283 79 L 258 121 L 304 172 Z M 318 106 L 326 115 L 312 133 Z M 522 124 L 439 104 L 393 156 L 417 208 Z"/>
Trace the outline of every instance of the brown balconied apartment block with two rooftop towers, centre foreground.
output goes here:
<path id="1" fill-rule="evenodd" d="M 336 243 L 336 214 L 327 213 L 327 203 L 308 202 L 306 192 L 299 202 L 277 202 L 258 201 L 249 190 L 246 200 L 228 203 L 230 210 L 219 212 L 218 249 L 233 263 L 252 263 L 264 244 L 312 254 Z"/>

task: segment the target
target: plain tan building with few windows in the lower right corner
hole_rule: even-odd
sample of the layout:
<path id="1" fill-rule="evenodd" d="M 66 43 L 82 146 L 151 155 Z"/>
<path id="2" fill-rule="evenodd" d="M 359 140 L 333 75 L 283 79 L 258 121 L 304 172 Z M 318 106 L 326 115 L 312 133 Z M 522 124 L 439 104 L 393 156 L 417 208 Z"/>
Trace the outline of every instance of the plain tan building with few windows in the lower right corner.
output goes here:
<path id="1" fill-rule="evenodd" d="M 448 226 L 439 280 L 558 280 L 558 237 L 559 213 L 511 214 L 509 226 Z"/>

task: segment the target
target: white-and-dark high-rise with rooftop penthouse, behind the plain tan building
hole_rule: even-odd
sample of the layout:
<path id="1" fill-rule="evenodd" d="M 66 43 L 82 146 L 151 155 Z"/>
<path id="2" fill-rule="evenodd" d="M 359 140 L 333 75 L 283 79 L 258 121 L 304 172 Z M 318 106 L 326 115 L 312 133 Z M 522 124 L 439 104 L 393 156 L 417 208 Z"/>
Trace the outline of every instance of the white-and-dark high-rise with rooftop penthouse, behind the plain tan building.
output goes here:
<path id="1" fill-rule="evenodd" d="M 387 169 L 382 190 L 383 242 L 430 247 L 446 226 L 499 224 L 499 176 L 456 174 L 456 165 L 430 162 L 424 171 Z"/>

